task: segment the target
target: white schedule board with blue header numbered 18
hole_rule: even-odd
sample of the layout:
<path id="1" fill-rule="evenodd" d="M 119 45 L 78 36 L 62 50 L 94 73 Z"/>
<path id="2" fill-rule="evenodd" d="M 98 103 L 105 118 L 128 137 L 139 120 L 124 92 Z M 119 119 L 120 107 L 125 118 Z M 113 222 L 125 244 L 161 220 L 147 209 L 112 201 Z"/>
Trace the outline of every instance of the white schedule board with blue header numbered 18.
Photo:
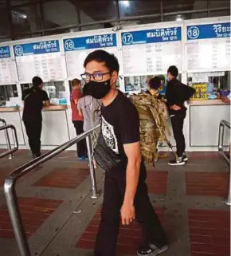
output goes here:
<path id="1" fill-rule="evenodd" d="M 187 70 L 230 70 L 230 22 L 187 26 Z"/>

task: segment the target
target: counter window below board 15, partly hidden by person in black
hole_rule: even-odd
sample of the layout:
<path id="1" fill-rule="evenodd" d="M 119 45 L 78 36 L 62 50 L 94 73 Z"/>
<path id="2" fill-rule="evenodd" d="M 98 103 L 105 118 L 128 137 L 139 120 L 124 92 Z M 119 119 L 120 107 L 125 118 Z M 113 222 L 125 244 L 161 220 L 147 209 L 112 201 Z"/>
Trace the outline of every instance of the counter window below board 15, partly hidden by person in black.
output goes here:
<path id="1" fill-rule="evenodd" d="M 21 86 L 23 91 L 32 87 L 32 84 L 23 84 Z M 51 104 L 67 104 L 65 85 L 63 81 L 44 82 L 43 90 L 48 94 Z"/>

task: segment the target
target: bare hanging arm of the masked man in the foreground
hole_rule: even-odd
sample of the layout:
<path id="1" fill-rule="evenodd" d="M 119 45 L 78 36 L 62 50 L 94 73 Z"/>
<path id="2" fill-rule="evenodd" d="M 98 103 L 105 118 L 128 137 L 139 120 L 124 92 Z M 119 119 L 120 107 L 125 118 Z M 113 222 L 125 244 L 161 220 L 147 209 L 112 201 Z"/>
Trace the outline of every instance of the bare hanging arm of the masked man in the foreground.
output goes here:
<path id="1" fill-rule="evenodd" d="M 127 156 L 126 190 L 121 208 L 123 225 L 129 225 L 135 219 L 134 200 L 139 182 L 141 152 L 139 142 L 123 144 Z"/>

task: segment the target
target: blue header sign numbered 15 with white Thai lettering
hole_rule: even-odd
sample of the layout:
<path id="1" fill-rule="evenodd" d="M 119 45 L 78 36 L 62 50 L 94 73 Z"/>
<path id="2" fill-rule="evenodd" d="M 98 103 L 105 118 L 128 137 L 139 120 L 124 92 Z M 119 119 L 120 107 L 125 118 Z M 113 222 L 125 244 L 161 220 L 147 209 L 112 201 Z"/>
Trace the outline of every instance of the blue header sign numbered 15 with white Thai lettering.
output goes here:
<path id="1" fill-rule="evenodd" d="M 39 41 L 24 45 L 14 45 L 14 54 L 16 57 L 57 52 L 60 52 L 60 45 L 58 40 Z"/>

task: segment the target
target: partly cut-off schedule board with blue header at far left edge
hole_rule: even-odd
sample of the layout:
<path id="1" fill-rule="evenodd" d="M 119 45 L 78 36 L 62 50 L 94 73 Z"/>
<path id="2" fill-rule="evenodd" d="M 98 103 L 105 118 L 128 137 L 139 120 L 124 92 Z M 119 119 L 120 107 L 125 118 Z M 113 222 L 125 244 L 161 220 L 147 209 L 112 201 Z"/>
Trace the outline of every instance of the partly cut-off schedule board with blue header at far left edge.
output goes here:
<path id="1" fill-rule="evenodd" d="M 10 46 L 0 46 L 0 85 L 14 83 L 14 68 L 10 55 Z"/>

